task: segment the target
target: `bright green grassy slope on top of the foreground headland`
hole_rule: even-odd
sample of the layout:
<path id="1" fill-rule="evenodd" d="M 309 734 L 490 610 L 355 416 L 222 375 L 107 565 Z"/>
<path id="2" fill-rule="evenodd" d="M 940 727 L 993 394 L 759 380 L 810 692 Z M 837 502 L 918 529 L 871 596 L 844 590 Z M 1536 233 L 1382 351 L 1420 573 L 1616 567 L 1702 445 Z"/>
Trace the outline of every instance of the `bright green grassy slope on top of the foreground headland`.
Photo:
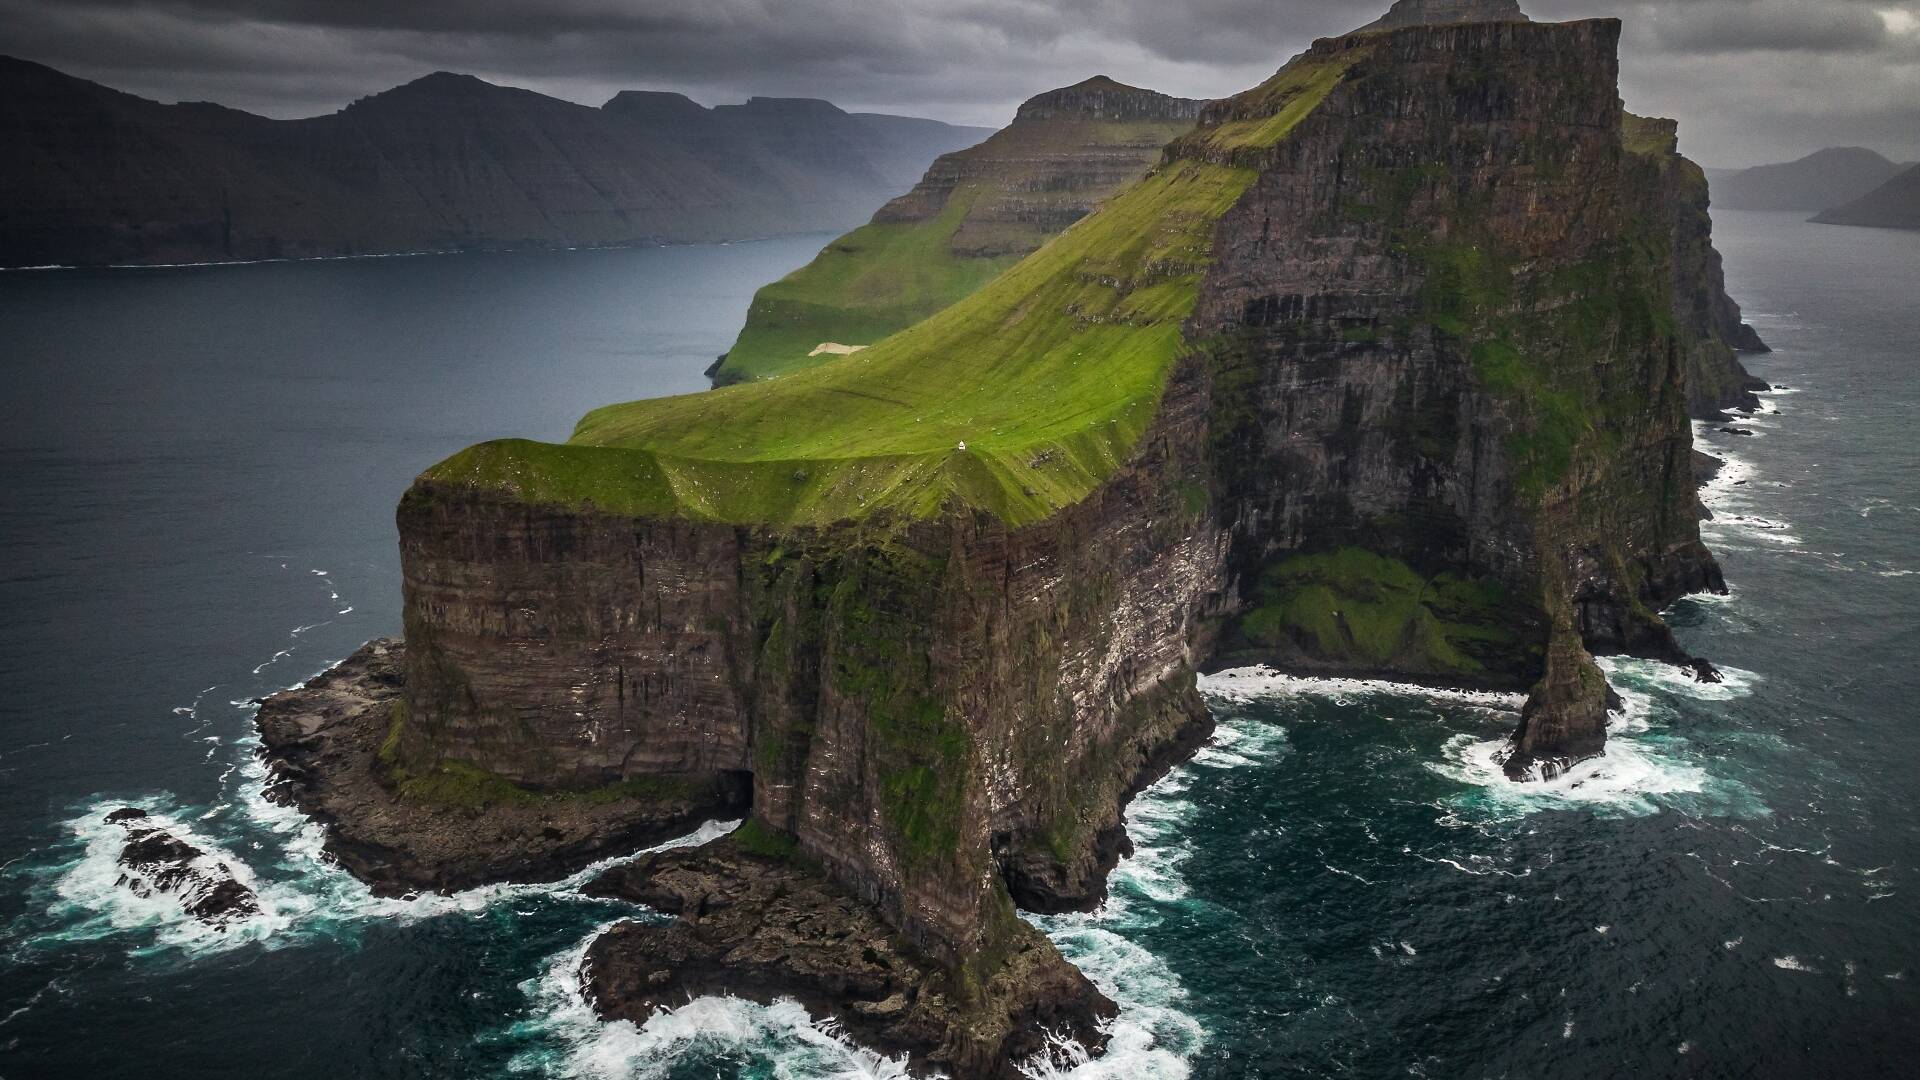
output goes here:
<path id="1" fill-rule="evenodd" d="M 1261 90 L 1290 123 L 1235 129 L 1235 146 L 1284 138 L 1363 52 L 1284 67 Z M 490 442 L 422 479 L 697 521 L 824 525 L 945 507 L 1039 521 L 1089 496 L 1152 421 L 1187 348 L 1181 325 L 1213 223 L 1254 175 L 1175 156 L 985 288 L 866 352 L 609 405 L 564 446 Z"/>

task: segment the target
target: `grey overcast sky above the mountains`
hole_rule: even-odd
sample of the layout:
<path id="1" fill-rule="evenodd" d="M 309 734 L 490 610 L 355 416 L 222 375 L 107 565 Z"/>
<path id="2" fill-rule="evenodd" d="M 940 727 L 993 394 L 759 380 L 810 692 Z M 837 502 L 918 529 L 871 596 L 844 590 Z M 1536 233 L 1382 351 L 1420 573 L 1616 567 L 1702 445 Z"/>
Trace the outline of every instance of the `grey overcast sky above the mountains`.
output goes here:
<path id="1" fill-rule="evenodd" d="M 1212 98 L 1388 0 L 0 0 L 0 52 L 159 100 L 332 111 L 436 69 L 584 104 L 751 94 L 998 127 L 1106 73 Z M 1920 0 L 1523 0 L 1617 15 L 1622 96 L 1707 165 L 1920 158 Z"/>

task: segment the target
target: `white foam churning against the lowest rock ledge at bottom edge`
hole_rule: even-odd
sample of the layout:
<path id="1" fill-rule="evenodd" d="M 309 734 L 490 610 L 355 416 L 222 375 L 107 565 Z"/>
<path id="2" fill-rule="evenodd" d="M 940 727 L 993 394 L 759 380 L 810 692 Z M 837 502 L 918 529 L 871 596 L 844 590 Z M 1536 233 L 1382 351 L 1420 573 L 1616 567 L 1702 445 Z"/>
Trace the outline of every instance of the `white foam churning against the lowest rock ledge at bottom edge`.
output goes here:
<path id="1" fill-rule="evenodd" d="M 695 997 L 678 1009 L 659 1011 L 645 1024 L 601 1020 L 580 990 L 580 965 L 593 940 L 547 959 L 545 969 L 520 984 L 532 1001 L 532 1019 L 515 1024 L 518 1038 L 543 1045 L 516 1055 L 515 1072 L 578 1078 L 660 1078 L 687 1055 L 751 1055 L 772 1063 L 772 1076 L 822 1080 L 906 1080 L 902 1059 L 889 1059 L 839 1036 L 829 1020 L 814 1020 L 795 1001 L 756 1005 L 739 997 Z"/>

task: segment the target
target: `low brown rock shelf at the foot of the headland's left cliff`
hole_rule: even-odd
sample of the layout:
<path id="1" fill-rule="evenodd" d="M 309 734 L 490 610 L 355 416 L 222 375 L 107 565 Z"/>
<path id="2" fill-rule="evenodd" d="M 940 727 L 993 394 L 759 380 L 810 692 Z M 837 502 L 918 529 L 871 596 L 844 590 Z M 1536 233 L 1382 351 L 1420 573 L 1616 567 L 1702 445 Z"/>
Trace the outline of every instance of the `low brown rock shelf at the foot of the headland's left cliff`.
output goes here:
<path id="1" fill-rule="evenodd" d="M 728 776 L 657 798 L 541 794 L 505 782 L 405 798 L 382 761 L 401 698 L 405 646 L 367 642 L 303 686 L 259 705 L 267 798 L 326 828 L 326 851 L 380 896 L 547 882 L 745 813 Z M 442 796 L 442 798 L 434 798 Z"/>

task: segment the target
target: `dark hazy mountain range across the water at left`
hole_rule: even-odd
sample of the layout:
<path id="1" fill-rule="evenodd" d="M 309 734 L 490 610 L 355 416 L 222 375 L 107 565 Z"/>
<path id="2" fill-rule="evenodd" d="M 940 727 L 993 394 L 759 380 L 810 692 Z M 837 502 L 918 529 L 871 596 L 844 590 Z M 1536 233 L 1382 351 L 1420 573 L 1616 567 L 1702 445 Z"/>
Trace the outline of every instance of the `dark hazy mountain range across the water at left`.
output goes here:
<path id="1" fill-rule="evenodd" d="M 588 108 L 451 73 L 282 121 L 0 58 L 0 265 L 829 233 L 987 135 L 806 98 Z"/>

